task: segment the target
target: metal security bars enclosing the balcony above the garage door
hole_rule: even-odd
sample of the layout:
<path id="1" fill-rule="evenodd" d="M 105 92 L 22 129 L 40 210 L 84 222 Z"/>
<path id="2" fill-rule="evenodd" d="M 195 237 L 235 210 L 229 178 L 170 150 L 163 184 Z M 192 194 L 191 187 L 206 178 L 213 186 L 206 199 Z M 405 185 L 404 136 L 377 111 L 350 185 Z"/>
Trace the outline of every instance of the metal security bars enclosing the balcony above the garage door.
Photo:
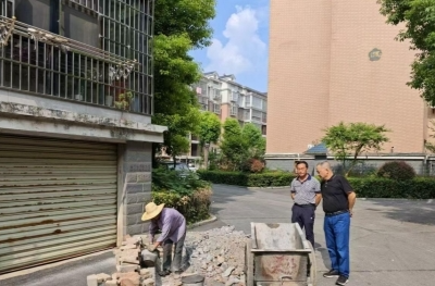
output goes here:
<path id="1" fill-rule="evenodd" d="M 129 111 L 151 114 L 152 2 L 0 0 L 0 27 L 17 17 L 0 50 L 0 87 L 112 108 L 128 98 Z"/>

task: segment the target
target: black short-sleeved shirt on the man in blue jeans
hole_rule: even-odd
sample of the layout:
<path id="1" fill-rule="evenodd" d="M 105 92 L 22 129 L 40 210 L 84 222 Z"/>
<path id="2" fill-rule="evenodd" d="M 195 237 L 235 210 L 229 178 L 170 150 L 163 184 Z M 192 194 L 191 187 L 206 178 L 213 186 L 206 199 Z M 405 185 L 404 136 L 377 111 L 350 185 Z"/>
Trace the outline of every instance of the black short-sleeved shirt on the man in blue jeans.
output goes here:
<path id="1" fill-rule="evenodd" d="M 328 181 L 322 181 L 323 211 L 338 212 L 348 210 L 347 195 L 352 191 L 352 187 L 344 176 L 333 175 Z"/>

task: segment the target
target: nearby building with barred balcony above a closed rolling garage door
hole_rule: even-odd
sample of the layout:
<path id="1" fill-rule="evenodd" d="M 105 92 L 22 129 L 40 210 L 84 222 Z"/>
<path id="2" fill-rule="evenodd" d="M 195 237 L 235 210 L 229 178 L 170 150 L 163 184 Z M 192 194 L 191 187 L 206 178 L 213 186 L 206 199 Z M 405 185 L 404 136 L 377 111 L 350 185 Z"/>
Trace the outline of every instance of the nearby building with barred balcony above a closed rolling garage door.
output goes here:
<path id="1" fill-rule="evenodd" d="M 153 0 L 0 0 L 0 274 L 147 232 Z"/>

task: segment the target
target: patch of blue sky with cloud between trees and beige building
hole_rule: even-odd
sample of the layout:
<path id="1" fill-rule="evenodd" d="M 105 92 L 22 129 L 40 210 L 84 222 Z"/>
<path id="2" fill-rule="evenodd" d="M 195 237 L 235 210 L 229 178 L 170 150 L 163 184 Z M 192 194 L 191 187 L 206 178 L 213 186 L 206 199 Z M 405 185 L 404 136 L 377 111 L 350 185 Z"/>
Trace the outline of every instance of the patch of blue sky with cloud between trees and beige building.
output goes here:
<path id="1" fill-rule="evenodd" d="M 190 54 L 203 72 L 268 91 L 269 0 L 217 0 L 213 43 Z"/>

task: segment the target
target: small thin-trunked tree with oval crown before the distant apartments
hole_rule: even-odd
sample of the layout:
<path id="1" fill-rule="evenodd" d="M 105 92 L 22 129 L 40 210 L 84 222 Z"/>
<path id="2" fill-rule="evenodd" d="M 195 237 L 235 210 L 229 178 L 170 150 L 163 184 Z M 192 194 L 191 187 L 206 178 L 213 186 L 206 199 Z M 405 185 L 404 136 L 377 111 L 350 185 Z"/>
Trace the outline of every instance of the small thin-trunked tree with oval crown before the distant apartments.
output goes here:
<path id="1" fill-rule="evenodd" d="M 198 126 L 198 135 L 201 147 L 204 147 L 204 164 L 209 167 L 209 147 L 211 142 L 216 144 L 221 136 L 221 121 L 219 117 L 209 111 L 203 112 L 200 116 Z"/>

